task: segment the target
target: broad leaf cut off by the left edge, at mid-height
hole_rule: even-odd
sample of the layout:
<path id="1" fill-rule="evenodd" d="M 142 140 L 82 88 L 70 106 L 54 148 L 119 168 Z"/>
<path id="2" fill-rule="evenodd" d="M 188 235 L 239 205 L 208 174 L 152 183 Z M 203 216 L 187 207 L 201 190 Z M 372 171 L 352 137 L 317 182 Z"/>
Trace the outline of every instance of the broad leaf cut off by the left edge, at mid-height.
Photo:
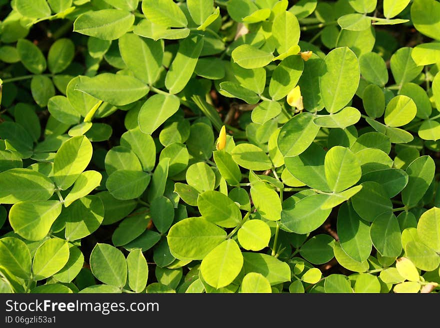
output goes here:
<path id="1" fill-rule="evenodd" d="M 0 173 L 0 203 L 14 204 L 20 201 L 44 201 L 52 196 L 53 182 L 39 172 L 13 168 Z"/>

